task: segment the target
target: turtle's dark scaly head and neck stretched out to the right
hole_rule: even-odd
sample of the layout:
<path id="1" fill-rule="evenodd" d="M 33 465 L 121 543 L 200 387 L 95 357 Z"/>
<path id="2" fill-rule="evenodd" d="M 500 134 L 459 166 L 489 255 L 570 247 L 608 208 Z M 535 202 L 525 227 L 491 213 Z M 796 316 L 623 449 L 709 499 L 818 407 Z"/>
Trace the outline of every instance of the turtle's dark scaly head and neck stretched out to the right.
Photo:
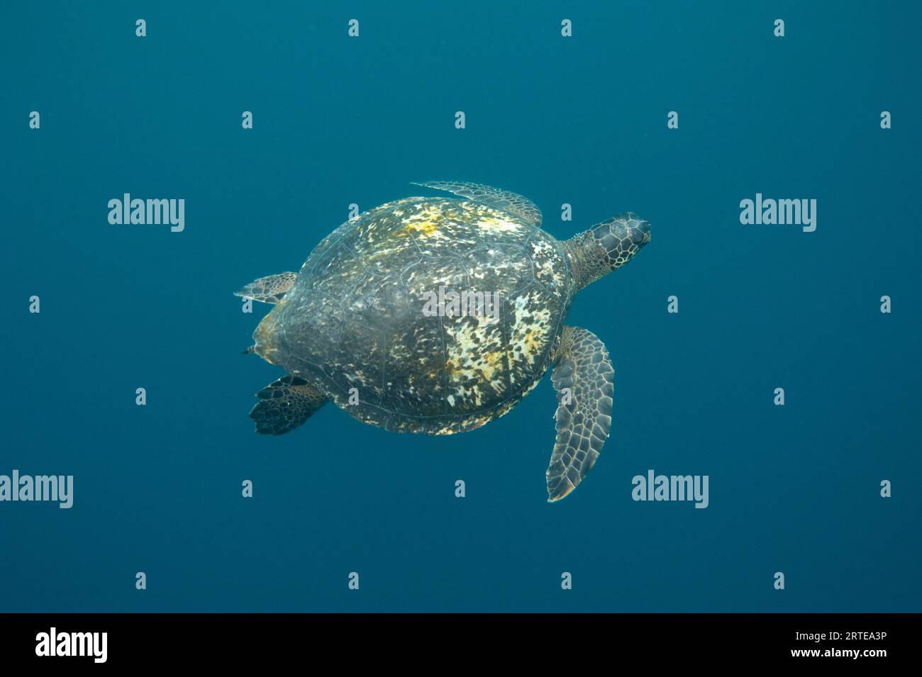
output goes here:
<path id="1" fill-rule="evenodd" d="M 650 224 L 625 212 L 563 243 L 577 289 L 631 261 L 650 241 Z"/>

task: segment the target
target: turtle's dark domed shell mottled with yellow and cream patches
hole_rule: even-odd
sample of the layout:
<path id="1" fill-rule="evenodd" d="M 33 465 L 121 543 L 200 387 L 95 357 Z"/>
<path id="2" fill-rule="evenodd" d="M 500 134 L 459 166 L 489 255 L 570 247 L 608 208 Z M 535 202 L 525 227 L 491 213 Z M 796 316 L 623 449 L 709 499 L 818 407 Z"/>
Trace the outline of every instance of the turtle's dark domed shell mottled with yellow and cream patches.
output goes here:
<path id="1" fill-rule="evenodd" d="M 497 294 L 498 321 L 427 317 L 426 293 L 440 286 Z M 365 423 L 450 434 L 505 414 L 538 383 L 572 298 L 561 243 L 538 225 L 411 197 L 324 239 L 256 330 L 255 350 Z"/>

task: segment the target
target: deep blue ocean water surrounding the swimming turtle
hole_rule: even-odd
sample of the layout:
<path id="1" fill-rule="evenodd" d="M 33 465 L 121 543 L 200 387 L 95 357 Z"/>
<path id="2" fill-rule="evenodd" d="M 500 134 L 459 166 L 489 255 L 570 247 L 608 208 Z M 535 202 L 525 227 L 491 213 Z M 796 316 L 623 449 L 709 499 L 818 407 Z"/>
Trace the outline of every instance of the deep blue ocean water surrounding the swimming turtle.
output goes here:
<path id="1" fill-rule="evenodd" d="M 0 611 L 922 611 L 920 20 L 857 2 L 7 7 L 0 474 L 72 474 L 75 496 L 0 503 Z M 282 372 L 240 354 L 268 307 L 231 293 L 298 270 L 349 204 L 430 179 L 525 194 L 559 239 L 627 210 L 652 224 L 573 305 L 609 347 L 614 423 L 560 503 L 547 378 L 449 438 L 334 406 L 254 435 L 253 393 Z M 124 193 L 183 198 L 183 232 L 111 225 Z M 816 230 L 740 224 L 756 193 L 815 199 Z M 708 475 L 708 508 L 632 500 L 650 469 Z"/>

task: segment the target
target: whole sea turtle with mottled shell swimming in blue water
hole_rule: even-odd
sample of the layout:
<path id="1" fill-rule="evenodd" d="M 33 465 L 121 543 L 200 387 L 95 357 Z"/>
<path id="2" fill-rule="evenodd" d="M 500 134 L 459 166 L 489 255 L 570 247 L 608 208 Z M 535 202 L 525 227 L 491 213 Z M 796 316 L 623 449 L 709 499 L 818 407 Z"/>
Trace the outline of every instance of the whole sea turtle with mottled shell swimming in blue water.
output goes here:
<path id="1" fill-rule="evenodd" d="M 375 207 L 328 235 L 301 272 L 236 292 L 275 304 L 244 352 L 288 372 L 256 393 L 256 432 L 287 433 L 331 401 L 372 426 L 450 435 L 506 414 L 553 368 L 546 475 L 548 500 L 559 500 L 609 437 L 614 377 L 605 345 L 566 325 L 567 311 L 650 241 L 650 226 L 628 212 L 559 241 L 521 195 L 415 185 L 460 199 Z"/>

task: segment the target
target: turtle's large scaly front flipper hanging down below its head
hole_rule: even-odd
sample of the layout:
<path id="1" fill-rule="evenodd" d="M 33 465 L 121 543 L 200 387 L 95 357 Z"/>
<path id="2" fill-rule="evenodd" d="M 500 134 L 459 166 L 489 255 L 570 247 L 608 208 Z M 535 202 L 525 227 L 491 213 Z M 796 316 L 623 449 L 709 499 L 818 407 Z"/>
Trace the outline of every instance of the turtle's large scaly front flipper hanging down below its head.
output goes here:
<path id="1" fill-rule="evenodd" d="M 550 380 L 557 391 L 557 442 L 548 467 L 548 501 L 567 496 L 609 438 L 615 371 L 596 334 L 564 327 Z"/>

